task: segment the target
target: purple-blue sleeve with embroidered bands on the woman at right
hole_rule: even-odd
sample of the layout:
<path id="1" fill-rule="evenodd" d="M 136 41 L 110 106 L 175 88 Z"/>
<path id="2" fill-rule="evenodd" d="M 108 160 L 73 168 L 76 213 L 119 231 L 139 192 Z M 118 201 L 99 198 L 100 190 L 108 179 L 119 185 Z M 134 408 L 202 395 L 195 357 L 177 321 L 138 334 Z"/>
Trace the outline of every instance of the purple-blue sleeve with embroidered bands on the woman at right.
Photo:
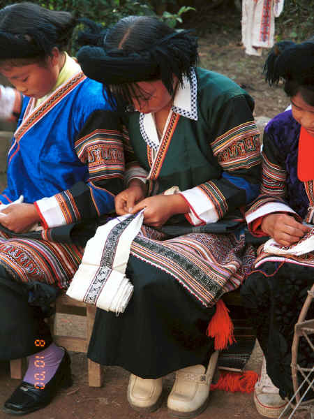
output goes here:
<path id="1" fill-rule="evenodd" d="M 248 228 L 254 235 L 262 234 L 260 226 L 265 215 L 287 212 L 301 221 L 304 207 L 309 205 L 299 202 L 302 196 L 306 196 L 295 170 L 299 131 L 300 126 L 293 119 L 291 110 L 272 119 L 264 130 L 261 194 L 246 212 Z M 288 171 L 290 179 L 287 183 Z M 258 223 L 257 219 L 260 219 Z"/>

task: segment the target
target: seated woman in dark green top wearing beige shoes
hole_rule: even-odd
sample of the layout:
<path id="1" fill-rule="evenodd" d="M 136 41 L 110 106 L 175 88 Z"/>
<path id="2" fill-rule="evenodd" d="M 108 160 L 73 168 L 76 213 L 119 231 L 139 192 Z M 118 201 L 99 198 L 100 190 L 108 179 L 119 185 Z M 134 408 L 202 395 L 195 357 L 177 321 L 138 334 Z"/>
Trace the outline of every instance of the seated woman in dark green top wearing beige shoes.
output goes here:
<path id="1" fill-rule="evenodd" d="M 119 316 L 98 309 L 88 356 L 132 373 L 128 402 L 139 411 L 160 406 L 162 377 L 177 371 L 168 409 L 193 417 L 206 407 L 216 365 L 207 325 L 255 257 L 241 228 L 223 229 L 259 191 L 253 99 L 195 68 L 195 38 L 154 17 L 126 17 L 88 39 L 102 46 L 78 52 L 84 73 L 128 110 L 128 187 L 116 210 L 144 209 L 126 270 L 133 296 Z"/>

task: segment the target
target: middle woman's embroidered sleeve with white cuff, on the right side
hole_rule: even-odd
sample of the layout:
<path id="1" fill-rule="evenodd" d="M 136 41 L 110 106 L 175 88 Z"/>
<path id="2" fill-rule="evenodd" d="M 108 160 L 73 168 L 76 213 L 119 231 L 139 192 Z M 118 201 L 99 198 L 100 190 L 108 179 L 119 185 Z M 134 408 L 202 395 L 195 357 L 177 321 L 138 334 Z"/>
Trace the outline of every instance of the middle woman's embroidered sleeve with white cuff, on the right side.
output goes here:
<path id="1" fill-rule="evenodd" d="M 215 127 L 211 149 L 223 171 L 216 179 L 182 192 L 191 209 L 186 218 L 194 225 L 218 221 L 228 210 L 250 203 L 259 192 L 259 131 L 254 121 L 239 124 L 251 115 L 248 103 L 237 96 L 223 104 L 220 112 L 225 117 Z"/>

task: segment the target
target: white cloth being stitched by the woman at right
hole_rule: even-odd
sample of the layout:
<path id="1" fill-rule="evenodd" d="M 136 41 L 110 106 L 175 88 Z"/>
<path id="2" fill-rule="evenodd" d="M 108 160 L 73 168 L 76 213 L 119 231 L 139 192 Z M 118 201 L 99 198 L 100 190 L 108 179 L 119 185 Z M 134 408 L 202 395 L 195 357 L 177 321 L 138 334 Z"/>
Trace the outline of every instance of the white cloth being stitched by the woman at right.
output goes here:
<path id="1" fill-rule="evenodd" d="M 314 228 L 302 237 L 299 242 L 292 246 L 285 247 L 278 244 L 274 239 L 267 240 L 264 244 L 264 251 L 275 255 L 300 256 L 314 251 Z"/>

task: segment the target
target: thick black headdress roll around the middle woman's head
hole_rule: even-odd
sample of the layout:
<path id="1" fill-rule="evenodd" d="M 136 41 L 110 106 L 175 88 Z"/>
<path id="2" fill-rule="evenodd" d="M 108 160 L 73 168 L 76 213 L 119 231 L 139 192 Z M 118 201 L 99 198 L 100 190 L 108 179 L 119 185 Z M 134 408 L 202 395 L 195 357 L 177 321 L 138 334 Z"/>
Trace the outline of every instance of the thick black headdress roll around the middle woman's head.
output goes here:
<path id="1" fill-rule="evenodd" d="M 188 31 L 178 31 L 138 52 L 84 46 L 77 53 L 77 60 L 89 78 L 105 85 L 158 78 L 171 90 L 173 74 L 180 81 L 182 75 L 190 75 L 190 68 L 197 61 L 197 43 Z"/>

